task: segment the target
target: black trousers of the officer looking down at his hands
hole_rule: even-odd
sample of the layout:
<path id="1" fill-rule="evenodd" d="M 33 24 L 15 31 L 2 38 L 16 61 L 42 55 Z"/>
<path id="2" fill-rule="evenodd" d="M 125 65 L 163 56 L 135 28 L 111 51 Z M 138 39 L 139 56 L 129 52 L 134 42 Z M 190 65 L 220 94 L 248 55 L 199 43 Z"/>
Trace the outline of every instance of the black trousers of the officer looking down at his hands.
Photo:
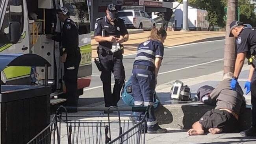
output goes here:
<path id="1" fill-rule="evenodd" d="M 115 54 L 99 54 L 99 60 L 102 68 L 100 79 L 103 84 L 105 107 L 117 106 L 125 79 L 122 54 L 119 51 Z M 115 78 L 113 93 L 111 92 L 112 72 Z"/>

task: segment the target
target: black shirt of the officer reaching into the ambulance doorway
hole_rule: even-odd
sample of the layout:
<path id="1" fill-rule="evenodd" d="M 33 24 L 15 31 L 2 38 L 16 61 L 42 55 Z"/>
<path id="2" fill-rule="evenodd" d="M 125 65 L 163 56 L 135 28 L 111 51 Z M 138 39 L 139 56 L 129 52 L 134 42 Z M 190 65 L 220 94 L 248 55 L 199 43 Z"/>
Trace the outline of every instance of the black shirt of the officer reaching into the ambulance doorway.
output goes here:
<path id="1" fill-rule="evenodd" d="M 79 48 L 79 32 L 76 24 L 67 18 L 63 24 L 61 37 L 59 35 L 53 37 L 55 41 L 61 41 L 63 53 L 67 53 L 65 63 L 78 63 L 80 62 L 80 48 Z M 65 49 L 65 50 L 64 50 Z"/>

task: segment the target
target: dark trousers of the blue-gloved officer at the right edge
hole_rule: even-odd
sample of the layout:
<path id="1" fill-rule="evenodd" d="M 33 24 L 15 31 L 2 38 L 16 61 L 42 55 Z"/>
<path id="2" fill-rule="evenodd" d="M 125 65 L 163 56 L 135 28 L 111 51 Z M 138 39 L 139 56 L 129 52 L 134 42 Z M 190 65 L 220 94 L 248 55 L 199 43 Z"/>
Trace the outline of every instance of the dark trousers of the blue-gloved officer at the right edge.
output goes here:
<path id="1" fill-rule="evenodd" d="M 252 103 L 252 126 L 256 127 L 256 68 L 252 74 L 251 89 L 251 103 Z"/>

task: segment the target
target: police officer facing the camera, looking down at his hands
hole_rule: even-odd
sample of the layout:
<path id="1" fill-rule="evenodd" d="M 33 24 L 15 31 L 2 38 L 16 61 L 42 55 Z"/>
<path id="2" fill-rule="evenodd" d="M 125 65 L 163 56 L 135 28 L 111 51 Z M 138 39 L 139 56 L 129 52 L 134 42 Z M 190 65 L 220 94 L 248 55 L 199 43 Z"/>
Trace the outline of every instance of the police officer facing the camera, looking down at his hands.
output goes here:
<path id="1" fill-rule="evenodd" d="M 118 8 L 109 4 L 106 16 L 98 18 L 94 28 L 94 39 L 99 42 L 97 47 L 101 66 L 100 79 L 103 83 L 105 107 L 117 106 L 125 74 L 122 63 L 122 50 L 117 46 L 128 41 L 128 31 L 124 21 L 117 16 Z M 115 85 L 111 92 L 111 72 L 114 74 Z"/>

